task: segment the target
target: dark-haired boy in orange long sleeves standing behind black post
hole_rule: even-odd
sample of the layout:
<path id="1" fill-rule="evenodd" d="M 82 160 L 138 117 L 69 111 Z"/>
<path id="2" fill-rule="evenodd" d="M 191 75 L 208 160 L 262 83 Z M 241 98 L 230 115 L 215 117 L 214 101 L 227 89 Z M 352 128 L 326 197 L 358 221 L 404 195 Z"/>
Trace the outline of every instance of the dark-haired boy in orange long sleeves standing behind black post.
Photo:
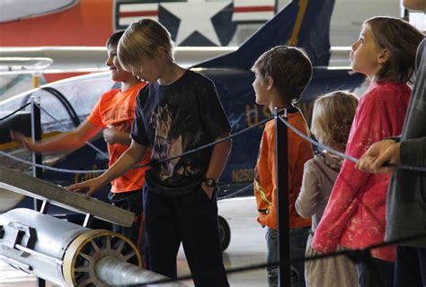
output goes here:
<path id="1" fill-rule="evenodd" d="M 288 122 L 309 135 L 305 118 L 293 103 L 310 82 L 312 64 L 298 48 L 278 46 L 266 51 L 252 67 L 256 78 L 253 89 L 256 103 L 288 110 Z M 288 130 L 288 188 L 290 223 L 290 259 L 305 256 L 311 221 L 297 214 L 295 201 L 300 191 L 305 162 L 313 157 L 312 147 Z M 259 212 L 257 221 L 267 227 L 267 263 L 279 261 L 277 232 L 277 187 L 275 171 L 275 122 L 266 124 L 254 172 L 254 195 Z M 291 265 L 291 286 L 305 286 L 304 264 Z M 269 286 L 278 286 L 278 267 L 268 267 Z"/>

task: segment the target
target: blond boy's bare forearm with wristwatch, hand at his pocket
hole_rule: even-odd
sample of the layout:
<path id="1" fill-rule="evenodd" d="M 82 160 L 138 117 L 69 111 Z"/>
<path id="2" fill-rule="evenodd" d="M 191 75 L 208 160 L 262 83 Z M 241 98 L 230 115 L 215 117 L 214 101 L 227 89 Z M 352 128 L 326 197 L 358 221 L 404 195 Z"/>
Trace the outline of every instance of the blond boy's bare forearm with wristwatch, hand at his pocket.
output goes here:
<path id="1" fill-rule="evenodd" d="M 222 135 L 219 135 L 215 139 L 215 141 L 220 140 L 221 138 L 224 138 L 228 135 L 229 133 L 224 133 Z M 217 143 L 215 145 L 215 147 L 213 148 L 213 152 L 211 153 L 209 169 L 206 172 L 206 178 L 213 178 L 215 179 L 215 181 L 217 181 L 220 178 L 223 170 L 225 169 L 226 161 L 227 161 L 227 158 L 229 157 L 229 152 L 231 152 L 231 147 L 232 147 L 231 140 L 228 140 L 222 143 Z M 207 187 L 204 182 L 201 184 L 201 187 L 204 189 L 206 194 L 211 199 L 214 187 Z"/>

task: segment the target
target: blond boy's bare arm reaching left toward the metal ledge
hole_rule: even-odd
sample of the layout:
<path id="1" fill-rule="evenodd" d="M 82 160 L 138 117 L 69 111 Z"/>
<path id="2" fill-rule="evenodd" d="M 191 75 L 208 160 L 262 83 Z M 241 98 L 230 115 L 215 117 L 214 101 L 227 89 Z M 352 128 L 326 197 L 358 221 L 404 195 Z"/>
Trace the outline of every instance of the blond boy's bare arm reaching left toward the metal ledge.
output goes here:
<path id="1" fill-rule="evenodd" d="M 86 191 L 86 196 L 91 196 L 99 188 L 107 185 L 111 180 L 119 178 L 121 175 L 128 172 L 139 161 L 141 161 L 146 153 L 147 147 L 145 145 L 132 141 L 129 149 L 121 154 L 120 159 L 116 161 L 110 169 L 105 171 L 100 177 L 93 178 L 81 183 L 67 187 L 67 189 L 75 192 Z"/>

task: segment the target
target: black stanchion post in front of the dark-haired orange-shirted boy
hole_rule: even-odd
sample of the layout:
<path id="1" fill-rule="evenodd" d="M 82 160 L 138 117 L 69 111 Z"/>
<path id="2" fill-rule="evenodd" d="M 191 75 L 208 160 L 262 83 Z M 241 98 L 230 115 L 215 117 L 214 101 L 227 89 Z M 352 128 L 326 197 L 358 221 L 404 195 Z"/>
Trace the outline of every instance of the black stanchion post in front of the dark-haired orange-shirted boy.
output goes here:
<path id="1" fill-rule="evenodd" d="M 281 116 L 287 120 L 287 109 Z M 277 213 L 280 255 L 280 286 L 290 286 L 290 236 L 288 214 L 288 133 L 287 126 L 279 118 L 279 110 L 274 110 L 275 118 L 275 166 L 277 172 Z"/>

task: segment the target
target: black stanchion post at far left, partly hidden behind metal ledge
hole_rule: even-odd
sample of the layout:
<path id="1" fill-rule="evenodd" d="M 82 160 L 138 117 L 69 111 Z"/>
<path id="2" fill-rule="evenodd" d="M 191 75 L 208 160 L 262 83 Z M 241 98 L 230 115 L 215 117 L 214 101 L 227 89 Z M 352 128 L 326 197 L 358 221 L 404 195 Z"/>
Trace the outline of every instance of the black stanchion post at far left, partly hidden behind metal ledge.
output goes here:
<path id="1" fill-rule="evenodd" d="M 32 96 L 31 97 L 31 137 L 33 141 L 40 141 L 41 139 L 41 113 L 40 113 L 40 107 L 37 105 L 40 105 L 40 96 Z M 41 153 L 35 153 L 32 152 L 32 163 L 41 164 L 42 163 L 42 157 Z M 42 178 L 42 172 L 41 168 L 39 167 L 32 167 L 32 175 L 35 178 Z M 41 200 L 34 198 L 34 210 L 42 211 L 43 213 L 47 212 L 45 208 L 43 207 L 43 202 Z M 38 287 L 45 287 L 46 281 L 44 279 L 38 278 L 37 280 L 37 286 Z"/>

